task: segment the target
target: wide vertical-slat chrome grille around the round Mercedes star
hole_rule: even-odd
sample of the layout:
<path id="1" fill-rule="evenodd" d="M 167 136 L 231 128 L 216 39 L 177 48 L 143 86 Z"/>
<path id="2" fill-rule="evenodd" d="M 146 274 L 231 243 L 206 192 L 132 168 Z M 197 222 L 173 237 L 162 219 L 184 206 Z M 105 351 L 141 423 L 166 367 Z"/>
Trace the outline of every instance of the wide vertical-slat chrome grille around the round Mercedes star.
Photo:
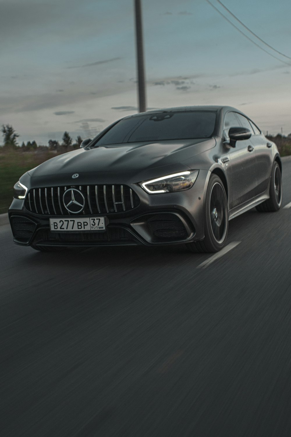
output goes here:
<path id="1" fill-rule="evenodd" d="M 68 212 L 63 203 L 69 188 L 80 191 L 85 198 L 85 207 L 77 214 Z M 112 214 L 129 211 L 139 204 L 139 197 L 130 187 L 117 184 L 33 188 L 25 198 L 25 208 L 41 215 Z"/>

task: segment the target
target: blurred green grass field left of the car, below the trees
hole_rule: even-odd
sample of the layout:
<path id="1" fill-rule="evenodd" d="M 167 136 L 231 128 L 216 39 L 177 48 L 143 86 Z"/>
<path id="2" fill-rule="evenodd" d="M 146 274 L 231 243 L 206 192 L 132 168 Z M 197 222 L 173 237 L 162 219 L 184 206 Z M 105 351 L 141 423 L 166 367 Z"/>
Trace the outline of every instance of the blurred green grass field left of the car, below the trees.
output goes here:
<path id="1" fill-rule="evenodd" d="M 8 211 L 13 199 L 13 186 L 23 173 L 55 156 L 53 152 L 34 153 L 3 151 L 0 153 L 0 214 Z"/>

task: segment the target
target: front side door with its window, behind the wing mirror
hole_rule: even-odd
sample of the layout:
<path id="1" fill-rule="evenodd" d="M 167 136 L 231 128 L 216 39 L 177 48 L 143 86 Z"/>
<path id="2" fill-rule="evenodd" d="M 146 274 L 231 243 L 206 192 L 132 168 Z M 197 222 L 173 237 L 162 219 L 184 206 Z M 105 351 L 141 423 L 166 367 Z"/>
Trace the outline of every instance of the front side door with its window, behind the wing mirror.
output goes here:
<path id="1" fill-rule="evenodd" d="M 226 113 L 223 126 L 224 141 L 229 140 L 229 128 L 243 126 L 237 115 L 239 114 L 233 111 Z M 249 123 L 248 129 L 251 131 Z M 229 158 L 231 168 L 229 208 L 232 209 L 249 201 L 257 194 L 256 151 L 250 140 L 237 141 L 236 147 L 229 149 Z"/>

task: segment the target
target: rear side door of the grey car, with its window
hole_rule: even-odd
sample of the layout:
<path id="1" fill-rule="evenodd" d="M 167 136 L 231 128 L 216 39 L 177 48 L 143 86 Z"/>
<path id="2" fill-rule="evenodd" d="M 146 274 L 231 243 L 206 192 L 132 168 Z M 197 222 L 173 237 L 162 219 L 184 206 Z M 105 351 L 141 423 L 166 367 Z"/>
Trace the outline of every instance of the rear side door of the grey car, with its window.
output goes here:
<path id="1" fill-rule="evenodd" d="M 260 129 L 251 121 L 254 134 L 250 138 L 256 150 L 257 184 L 259 194 L 267 190 L 273 166 L 272 143 L 262 134 Z"/>

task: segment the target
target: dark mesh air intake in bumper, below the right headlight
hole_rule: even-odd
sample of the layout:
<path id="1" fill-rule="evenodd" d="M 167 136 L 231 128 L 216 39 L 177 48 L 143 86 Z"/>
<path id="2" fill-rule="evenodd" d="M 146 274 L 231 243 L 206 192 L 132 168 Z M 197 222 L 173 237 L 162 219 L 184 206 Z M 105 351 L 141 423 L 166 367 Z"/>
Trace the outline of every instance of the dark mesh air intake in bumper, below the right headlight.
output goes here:
<path id="1" fill-rule="evenodd" d="M 155 214 L 147 219 L 152 234 L 160 239 L 185 239 L 187 231 L 175 214 Z"/>

